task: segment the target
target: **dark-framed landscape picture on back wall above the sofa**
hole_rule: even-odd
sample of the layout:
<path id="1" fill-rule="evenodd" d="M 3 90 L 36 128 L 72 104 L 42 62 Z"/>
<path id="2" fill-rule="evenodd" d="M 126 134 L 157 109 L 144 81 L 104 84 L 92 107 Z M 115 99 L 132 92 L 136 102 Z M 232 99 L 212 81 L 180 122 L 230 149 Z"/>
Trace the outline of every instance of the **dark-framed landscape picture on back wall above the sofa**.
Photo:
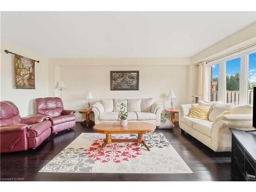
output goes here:
<path id="1" fill-rule="evenodd" d="M 111 91 L 139 90 L 139 71 L 111 71 Z"/>

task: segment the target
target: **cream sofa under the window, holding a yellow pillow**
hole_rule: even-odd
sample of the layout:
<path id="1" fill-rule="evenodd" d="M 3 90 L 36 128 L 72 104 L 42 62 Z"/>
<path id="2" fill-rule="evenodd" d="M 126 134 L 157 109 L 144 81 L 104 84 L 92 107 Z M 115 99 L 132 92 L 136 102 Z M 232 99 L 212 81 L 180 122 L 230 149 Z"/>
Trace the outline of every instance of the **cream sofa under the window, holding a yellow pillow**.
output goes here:
<path id="1" fill-rule="evenodd" d="M 209 120 L 188 117 L 190 109 L 191 104 L 180 105 L 180 128 L 215 152 L 231 151 L 229 128 L 252 129 L 252 105 L 226 106 L 221 110 L 218 104 L 212 104 L 208 114 Z M 231 114 L 221 115 L 226 110 L 229 110 Z"/>

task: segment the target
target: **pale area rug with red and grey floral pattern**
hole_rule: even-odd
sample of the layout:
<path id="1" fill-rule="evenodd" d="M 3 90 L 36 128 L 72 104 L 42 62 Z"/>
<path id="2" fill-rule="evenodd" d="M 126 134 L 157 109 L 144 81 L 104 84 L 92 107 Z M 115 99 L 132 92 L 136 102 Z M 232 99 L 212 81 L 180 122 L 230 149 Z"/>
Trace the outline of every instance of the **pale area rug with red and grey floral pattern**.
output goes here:
<path id="1" fill-rule="evenodd" d="M 112 134 L 112 138 L 137 138 L 137 134 Z M 151 151 L 137 142 L 107 144 L 105 135 L 82 133 L 39 172 L 192 174 L 162 133 L 145 134 Z"/>

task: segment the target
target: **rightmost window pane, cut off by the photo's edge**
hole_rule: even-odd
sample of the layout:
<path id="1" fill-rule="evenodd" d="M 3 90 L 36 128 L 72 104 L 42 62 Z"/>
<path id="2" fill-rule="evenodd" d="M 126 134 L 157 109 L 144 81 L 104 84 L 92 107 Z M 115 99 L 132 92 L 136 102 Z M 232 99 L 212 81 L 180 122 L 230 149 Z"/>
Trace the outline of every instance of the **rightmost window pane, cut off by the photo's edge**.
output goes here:
<path id="1" fill-rule="evenodd" d="M 247 103 L 253 104 L 253 87 L 256 87 L 256 53 L 249 54 Z"/>

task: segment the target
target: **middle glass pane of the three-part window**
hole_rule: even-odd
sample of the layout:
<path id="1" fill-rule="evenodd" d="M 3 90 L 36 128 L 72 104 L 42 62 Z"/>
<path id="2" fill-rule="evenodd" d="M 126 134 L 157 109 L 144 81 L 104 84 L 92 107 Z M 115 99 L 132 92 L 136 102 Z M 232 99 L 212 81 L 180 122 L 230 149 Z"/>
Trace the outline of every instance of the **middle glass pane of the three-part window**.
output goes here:
<path id="1" fill-rule="evenodd" d="M 226 61 L 226 102 L 239 104 L 240 58 Z"/>

